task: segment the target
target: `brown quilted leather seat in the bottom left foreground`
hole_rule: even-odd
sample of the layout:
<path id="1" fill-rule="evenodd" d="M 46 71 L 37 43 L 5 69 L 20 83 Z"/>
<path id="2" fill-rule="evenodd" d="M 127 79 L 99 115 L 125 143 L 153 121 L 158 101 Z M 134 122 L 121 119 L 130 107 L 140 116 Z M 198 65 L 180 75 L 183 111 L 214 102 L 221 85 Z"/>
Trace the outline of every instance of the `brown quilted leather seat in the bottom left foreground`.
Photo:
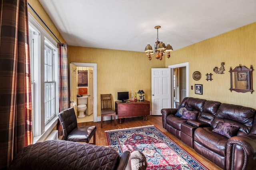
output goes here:
<path id="1" fill-rule="evenodd" d="M 134 155 L 135 154 L 135 155 Z M 11 170 L 145 170 L 142 153 L 125 151 L 122 156 L 109 147 L 52 140 L 24 147 L 16 154 Z M 138 154 L 140 154 L 138 156 Z M 141 157 L 144 156 L 144 157 Z M 131 160 L 134 157 L 134 160 Z M 140 161 L 136 159 L 140 159 Z M 134 168 L 132 162 L 135 161 Z M 138 164 L 139 163 L 139 164 Z M 138 166 L 139 165 L 139 166 Z"/>

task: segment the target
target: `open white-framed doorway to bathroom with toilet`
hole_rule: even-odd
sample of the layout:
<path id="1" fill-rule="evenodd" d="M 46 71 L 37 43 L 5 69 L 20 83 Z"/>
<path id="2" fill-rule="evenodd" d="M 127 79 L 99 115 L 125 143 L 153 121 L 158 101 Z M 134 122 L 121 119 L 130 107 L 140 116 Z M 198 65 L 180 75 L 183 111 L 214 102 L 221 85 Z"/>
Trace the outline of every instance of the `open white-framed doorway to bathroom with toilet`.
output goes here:
<path id="1" fill-rule="evenodd" d="M 77 117 L 77 122 L 88 122 L 97 121 L 97 64 L 96 63 L 71 63 L 74 68 L 70 66 L 70 107 L 74 107 L 76 115 L 78 115 L 77 106 L 78 96 L 88 96 L 87 108 L 84 112 L 84 117 Z M 74 71 L 76 70 L 76 71 Z M 78 70 L 80 72 L 87 72 L 88 82 L 83 82 L 84 85 L 81 86 L 79 82 L 78 86 Z M 76 80 L 72 80 L 71 74 L 76 74 Z M 83 75 L 84 76 L 84 75 Z M 86 85 L 87 84 L 87 85 Z M 81 93 L 81 94 L 80 94 Z"/>

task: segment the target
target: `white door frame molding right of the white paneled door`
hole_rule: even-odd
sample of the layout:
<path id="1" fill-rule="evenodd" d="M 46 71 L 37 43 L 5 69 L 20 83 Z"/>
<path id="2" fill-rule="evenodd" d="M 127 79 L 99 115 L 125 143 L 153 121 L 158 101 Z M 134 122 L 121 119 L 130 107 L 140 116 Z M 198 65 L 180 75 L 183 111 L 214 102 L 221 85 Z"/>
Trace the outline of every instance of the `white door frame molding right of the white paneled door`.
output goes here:
<path id="1" fill-rule="evenodd" d="M 174 88 L 174 84 L 173 84 L 174 68 L 178 68 L 178 67 L 186 67 L 186 96 L 189 97 L 189 63 L 188 62 L 168 66 L 168 68 L 171 68 L 171 89 Z M 174 93 L 173 93 L 173 90 L 171 90 L 171 108 L 174 108 L 173 99 L 174 99 Z"/>

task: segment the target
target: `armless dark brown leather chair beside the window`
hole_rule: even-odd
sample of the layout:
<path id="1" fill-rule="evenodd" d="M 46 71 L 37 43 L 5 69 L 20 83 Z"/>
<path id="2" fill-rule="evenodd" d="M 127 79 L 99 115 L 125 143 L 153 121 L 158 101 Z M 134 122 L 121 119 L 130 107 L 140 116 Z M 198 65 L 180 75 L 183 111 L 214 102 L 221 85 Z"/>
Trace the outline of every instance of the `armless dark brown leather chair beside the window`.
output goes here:
<path id="1" fill-rule="evenodd" d="M 68 108 L 58 114 L 63 129 L 63 137 L 66 141 L 89 143 L 93 136 L 96 142 L 96 126 L 77 126 L 74 108 Z"/>

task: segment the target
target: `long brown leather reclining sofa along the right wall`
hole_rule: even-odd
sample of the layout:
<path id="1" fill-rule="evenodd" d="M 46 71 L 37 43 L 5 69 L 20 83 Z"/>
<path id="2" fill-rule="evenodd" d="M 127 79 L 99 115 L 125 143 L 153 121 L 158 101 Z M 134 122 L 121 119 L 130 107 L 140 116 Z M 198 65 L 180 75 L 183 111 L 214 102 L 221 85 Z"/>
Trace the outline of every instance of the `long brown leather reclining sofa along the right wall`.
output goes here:
<path id="1" fill-rule="evenodd" d="M 196 119 L 178 117 L 178 109 L 198 112 Z M 256 169 L 255 109 L 190 97 L 178 109 L 161 110 L 167 131 L 222 169 Z"/>

